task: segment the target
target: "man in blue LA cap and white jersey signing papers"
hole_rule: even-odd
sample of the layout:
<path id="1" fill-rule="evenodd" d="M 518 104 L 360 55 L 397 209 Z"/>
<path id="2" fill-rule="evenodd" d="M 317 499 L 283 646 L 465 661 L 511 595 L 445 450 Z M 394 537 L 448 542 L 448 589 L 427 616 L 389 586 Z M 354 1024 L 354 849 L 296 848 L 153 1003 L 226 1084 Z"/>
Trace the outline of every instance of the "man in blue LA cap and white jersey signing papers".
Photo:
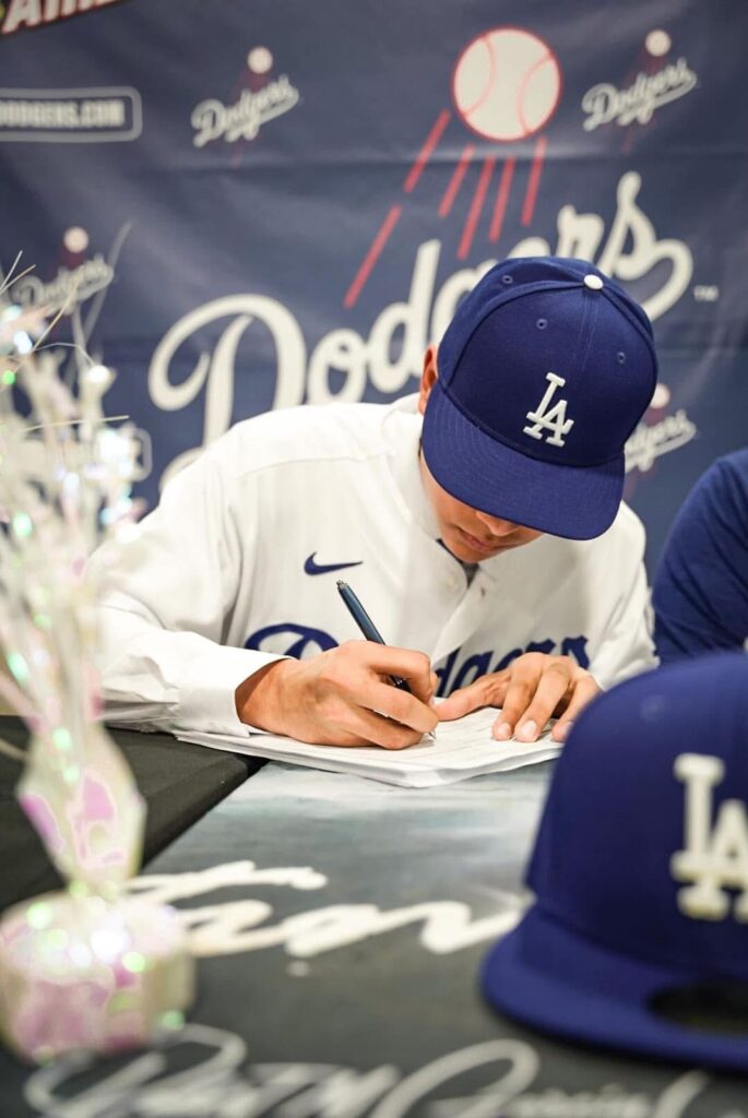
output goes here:
<path id="1" fill-rule="evenodd" d="M 392 406 L 238 424 L 165 489 L 102 608 L 112 719 L 401 748 L 502 707 L 555 737 L 653 664 L 624 444 L 652 329 L 583 260 L 505 260 Z M 423 417 L 423 420 L 422 420 Z M 342 575 L 387 646 L 361 641 Z M 391 685 L 405 678 L 411 693 Z"/>

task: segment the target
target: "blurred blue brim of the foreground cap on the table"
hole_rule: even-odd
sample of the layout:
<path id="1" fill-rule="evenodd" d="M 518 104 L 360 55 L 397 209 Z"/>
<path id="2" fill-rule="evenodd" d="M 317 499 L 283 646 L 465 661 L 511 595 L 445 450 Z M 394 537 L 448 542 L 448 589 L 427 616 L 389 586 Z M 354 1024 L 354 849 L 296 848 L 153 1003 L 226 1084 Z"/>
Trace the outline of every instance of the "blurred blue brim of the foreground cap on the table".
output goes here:
<path id="1" fill-rule="evenodd" d="M 703 975 L 638 961 L 532 908 L 483 963 L 486 998 L 508 1016 L 567 1040 L 678 1063 L 748 1068 L 748 1035 L 700 1032 L 655 1015 L 651 998 Z"/>

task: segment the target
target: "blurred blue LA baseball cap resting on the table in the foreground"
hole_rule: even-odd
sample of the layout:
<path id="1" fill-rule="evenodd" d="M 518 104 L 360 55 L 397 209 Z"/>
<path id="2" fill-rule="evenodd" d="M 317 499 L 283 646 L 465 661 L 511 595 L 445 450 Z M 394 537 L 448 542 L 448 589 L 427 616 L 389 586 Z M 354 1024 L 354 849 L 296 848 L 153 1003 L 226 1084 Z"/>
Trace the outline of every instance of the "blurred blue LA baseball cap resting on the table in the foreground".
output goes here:
<path id="1" fill-rule="evenodd" d="M 494 1006 L 567 1039 L 748 1068 L 747 742 L 744 653 L 587 708 L 540 822 L 534 904 L 483 964 Z M 684 1023 L 708 1001 L 729 1026 Z"/>

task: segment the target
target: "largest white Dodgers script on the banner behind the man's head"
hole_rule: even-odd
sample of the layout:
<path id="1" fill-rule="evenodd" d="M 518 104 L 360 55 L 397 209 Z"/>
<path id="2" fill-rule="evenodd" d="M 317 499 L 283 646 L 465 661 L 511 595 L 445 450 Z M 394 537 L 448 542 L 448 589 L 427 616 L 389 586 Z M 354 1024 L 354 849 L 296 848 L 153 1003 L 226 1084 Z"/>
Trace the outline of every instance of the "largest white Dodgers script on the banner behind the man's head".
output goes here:
<path id="1" fill-rule="evenodd" d="M 662 285 L 643 302 L 650 318 L 659 318 L 689 286 L 693 262 L 683 241 L 657 239 L 654 226 L 636 202 L 641 183 L 641 177 L 634 171 L 622 177 L 617 210 L 607 239 L 605 222 L 598 214 L 578 214 L 572 206 L 564 206 L 558 214 L 555 249 L 547 240 L 531 237 L 515 245 L 509 255 L 578 256 L 597 263 L 613 278 L 626 282 L 648 276 L 664 262 L 670 267 Z M 351 328 L 333 330 L 318 342 L 309 363 L 301 326 L 277 300 L 237 294 L 197 307 L 169 330 L 153 353 L 149 370 L 153 402 L 165 411 L 180 410 L 205 389 L 203 445 L 221 435 L 231 423 L 237 348 L 246 329 L 255 322 L 269 331 L 274 344 L 272 408 L 292 407 L 304 400 L 310 404 L 360 400 L 368 382 L 394 395 L 407 390 L 409 383 L 415 388 L 425 347 L 441 339 L 460 297 L 495 263 L 484 260 L 476 267 L 461 269 L 436 291 L 441 252 L 438 240 L 420 245 L 407 302 L 386 306 L 376 318 L 368 338 Z M 212 353 L 203 352 L 191 375 L 179 383 L 172 382 L 170 366 L 180 348 L 198 331 L 222 319 L 231 321 L 215 343 Z M 342 381 L 338 378 L 335 391 L 330 378 L 333 369 L 343 373 Z M 247 375 L 252 371 L 248 369 Z M 196 447 L 174 459 L 162 483 L 199 449 Z"/>

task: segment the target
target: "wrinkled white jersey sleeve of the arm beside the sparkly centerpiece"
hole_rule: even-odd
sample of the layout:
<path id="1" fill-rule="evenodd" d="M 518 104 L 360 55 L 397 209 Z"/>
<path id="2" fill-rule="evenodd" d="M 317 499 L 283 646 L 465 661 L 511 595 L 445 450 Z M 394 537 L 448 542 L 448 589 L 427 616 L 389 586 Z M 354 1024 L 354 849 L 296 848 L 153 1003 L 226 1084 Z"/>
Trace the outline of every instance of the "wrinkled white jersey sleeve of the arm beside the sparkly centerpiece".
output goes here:
<path id="1" fill-rule="evenodd" d="M 113 557 L 98 609 L 101 680 L 110 721 L 141 730 L 246 731 L 239 683 L 278 657 L 226 642 L 240 570 L 258 525 L 245 494 L 242 517 L 221 440 L 167 485 L 136 538 Z"/>

